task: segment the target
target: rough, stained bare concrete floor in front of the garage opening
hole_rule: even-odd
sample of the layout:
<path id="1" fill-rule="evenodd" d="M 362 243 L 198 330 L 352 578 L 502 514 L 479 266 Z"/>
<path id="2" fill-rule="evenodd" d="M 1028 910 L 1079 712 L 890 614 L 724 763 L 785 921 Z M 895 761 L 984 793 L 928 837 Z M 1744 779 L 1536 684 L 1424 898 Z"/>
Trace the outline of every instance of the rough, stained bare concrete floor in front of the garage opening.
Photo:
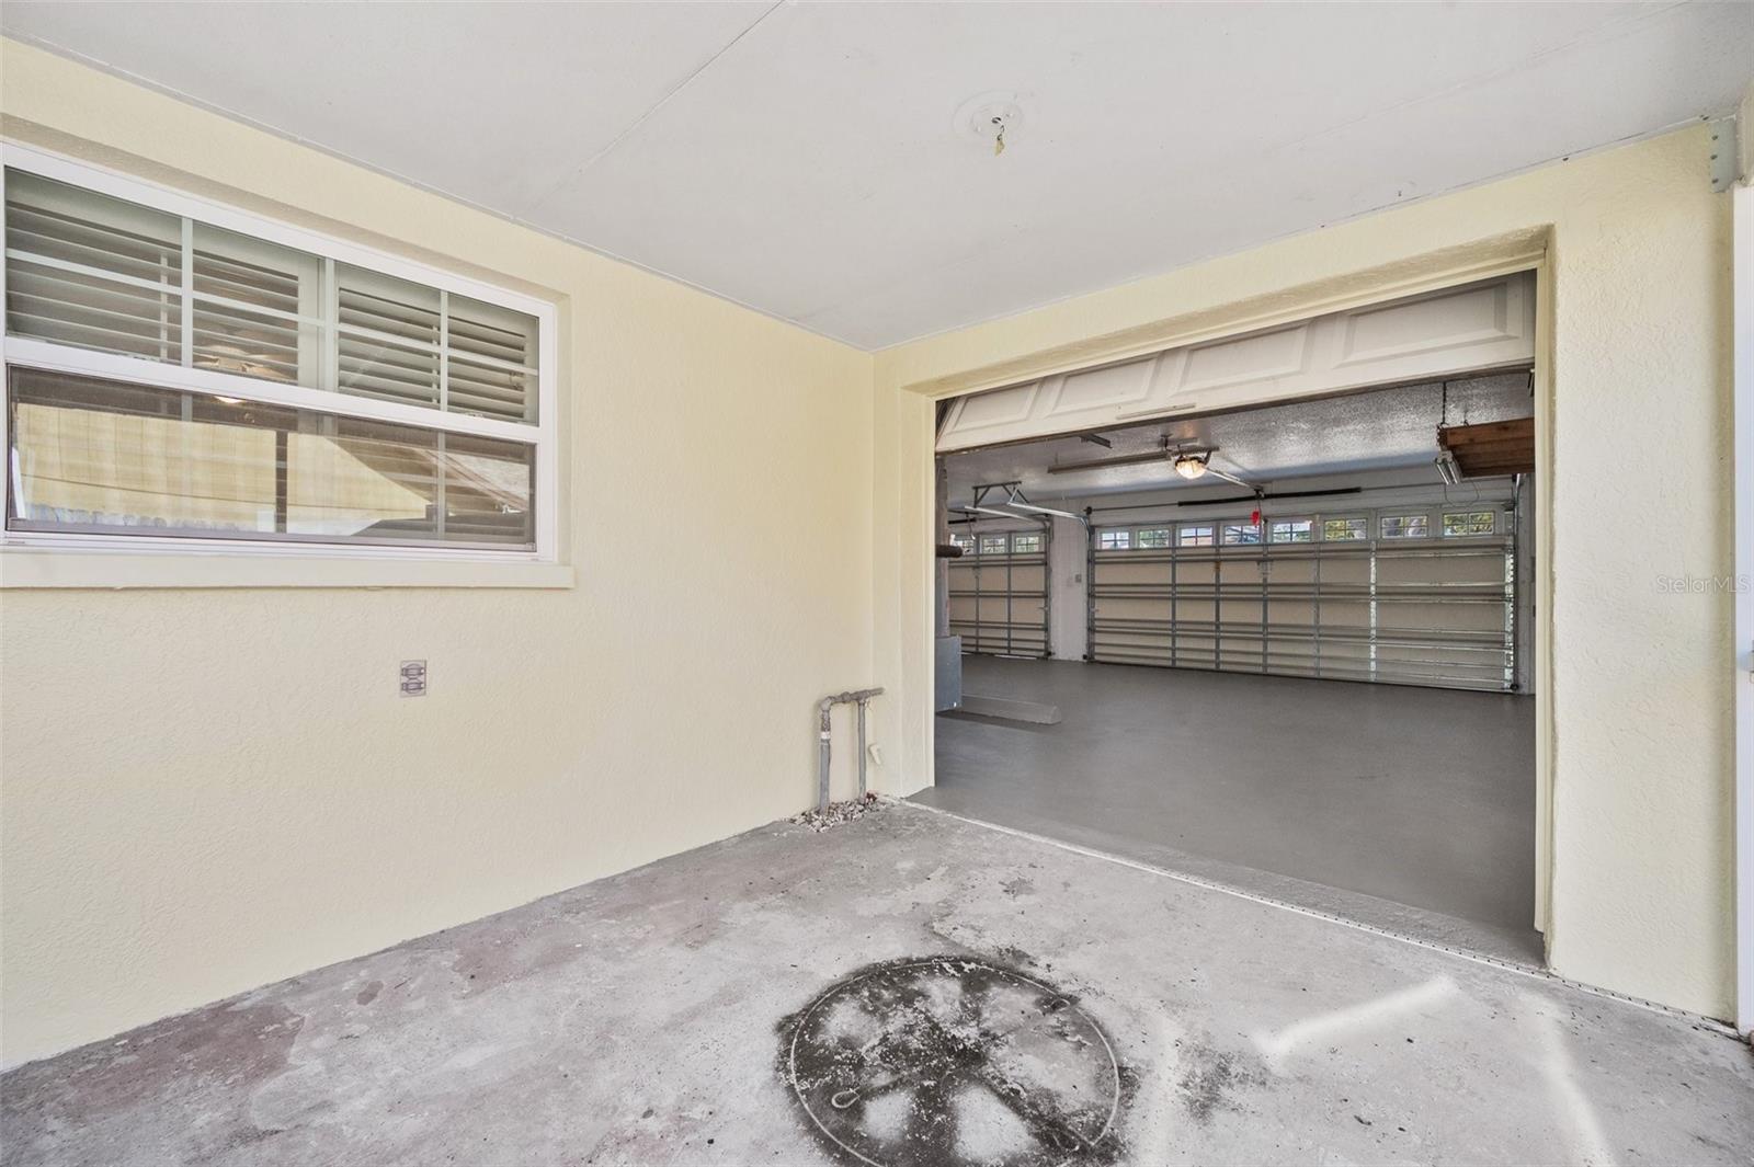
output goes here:
<path id="1" fill-rule="evenodd" d="M 1745 1163 L 1712 1027 L 889 804 L 0 1078 L 23 1163 Z M 837 1149 L 849 1148 L 849 1149 Z"/>

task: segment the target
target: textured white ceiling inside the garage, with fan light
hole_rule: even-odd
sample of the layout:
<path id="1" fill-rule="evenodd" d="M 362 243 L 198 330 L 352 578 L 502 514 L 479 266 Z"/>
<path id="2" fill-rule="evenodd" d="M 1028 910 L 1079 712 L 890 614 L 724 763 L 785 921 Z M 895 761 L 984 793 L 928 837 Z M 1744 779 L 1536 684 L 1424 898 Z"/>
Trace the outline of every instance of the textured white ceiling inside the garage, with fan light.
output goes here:
<path id="1" fill-rule="evenodd" d="M 1528 417 L 1533 412 L 1528 373 L 1470 377 L 1398 389 L 1373 389 L 1314 401 L 1291 401 L 1237 414 L 1210 414 L 1170 422 L 1105 429 L 1110 447 L 1082 438 L 1044 438 L 968 454 L 945 454 L 949 499 L 973 503 L 975 487 L 1019 482 L 1023 492 L 1049 506 L 1096 494 L 1142 491 L 1237 489 L 1210 477 L 1177 477 L 1168 457 L 1086 470 L 1049 470 L 1154 452 L 1163 442 L 1214 449 L 1210 466 L 1272 487 L 1293 478 L 1368 475 L 1386 470 L 1437 471 L 1438 426 L 1466 426 Z"/>

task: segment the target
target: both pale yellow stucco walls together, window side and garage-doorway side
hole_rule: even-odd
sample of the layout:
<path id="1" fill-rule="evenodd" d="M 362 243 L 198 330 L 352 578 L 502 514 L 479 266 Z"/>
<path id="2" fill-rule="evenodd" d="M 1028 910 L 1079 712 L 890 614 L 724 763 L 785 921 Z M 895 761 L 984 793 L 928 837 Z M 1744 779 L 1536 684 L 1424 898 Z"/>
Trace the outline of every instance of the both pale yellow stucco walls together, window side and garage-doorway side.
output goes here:
<path id="1" fill-rule="evenodd" d="M 16 140 L 556 300 L 577 569 L 0 592 L 0 1062 L 791 813 L 823 692 L 888 685 L 873 782 L 923 785 L 923 385 L 1528 245 L 1554 326 L 1552 962 L 1729 1013 L 1729 603 L 1658 582 L 1729 569 L 1729 221 L 1703 130 L 873 361 L 11 42 L 0 110 Z M 1663 471 L 1626 470 L 1635 449 Z M 431 662 L 428 697 L 395 696 L 403 657 Z"/>

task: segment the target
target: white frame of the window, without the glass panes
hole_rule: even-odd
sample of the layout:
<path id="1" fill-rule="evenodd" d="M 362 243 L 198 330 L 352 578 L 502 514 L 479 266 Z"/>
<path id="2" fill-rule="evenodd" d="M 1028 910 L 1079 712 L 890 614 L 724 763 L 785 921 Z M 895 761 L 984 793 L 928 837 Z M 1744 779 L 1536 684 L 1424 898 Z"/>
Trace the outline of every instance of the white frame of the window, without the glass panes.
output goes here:
<path id="1" fill-rule="evenodd" d="M 519 564 L 538 562 L 556 564 L 560 561 L 560 393 L 556 385 L 558 370 L 558 308 L 547 300 L 514 293 L 505 287 L 486 284 L 433 268 L 424 263 L 403 259 L 372 247 L 361 247 L 328 235 L 288 226 L 251 212 L 237 210 L 225 203 L 184 194 L 154 182 L 146 182 L 102 166 L 72 161 L 58 154 L 18 145 L 0 144 L 0 166 L 23 170 L 54 179 L 70 186 L 84 187 L 98 194 L 109 194 L 130 203 L 151 207 L 165 214 L 195 219 L 216 228 L 237 231 L 270 244 L 281 244 L 314 254 L 321 259 L 347 263 L 368 268 L 382 275 L 393 275 L 416 284 L 424 284 L 446 293 L 482 300 L 491 305 L 512 308 L 537 319 L 537 422 L 510 422 L 493 417 L 475 417 L 472 414 L 451 414 L 437 408 L 405 405 L 398 401 L 381 401 L 375 398 L 353 396 L 332 389 L 307 389 L 284 382 L 242 377 L 237 373 L 219 373 L 214 370 L 165 364 L 140 357 L 128 357 L 111 352 L 93 352 L 72 345 L 60 345 L 30 336 L 5 335 L 4 364 L 11 380 L 12 368 L 35 368 L 58 373 L 98 377 L 107 380 L 151 385 L 158 389 L 175 389 L 200 393 L 207 396 L 240 398 L 267 405 L 282 405 L 317 414 L 340 417 L 358 417 L 384 421 L 402 426 L 416 426 L 426 431 L 463 433 L 484 438 L 498 438 L 535 447 L 535 548 L 488 550 L 479 547 L 382 547 L 374 543 L 319 543 L 319 541 L 284 541 L 253 538 L 191 538 L 191 536 L 151 536 L 151 534 L 95 534 L 82 531 L 7 531 L 0 524 L 0 550 L 11 557 L 14 552 L 112 552 L 118 555 L 139 554 L 200 554 L 200 555 L 272 555 L 286 559 L 388 559 L 388 561 L 430 561 L 430 562 L 495 562 Z M 0 238 L 5 230 L 4 173 L 0 173 Z M 184 289 L 188 296 L 188 289 Z M 5 265 L 0 263 L 0 305 L 5 303 Z M 11 389 L 7 389 L 11 394 Z M 5 452 L 11 464 L 11 398 L 0 398 L 0 452 Z M 11 468 L 7 470 L 11 473 Z M 163 573 L 158 573 L 163 575 Z M 303 573 L 309 576 L 309 573 Z M 395 573 L 377 573 L 374 578 L 400 582 Z M 470 573 L 453 573 L 456 580 L 475 580 Z M 12 580 L 7 580 L 11 584 Z M 267 580 L 260 580 L 267 582 Z M 570 576 L 568 576 L 570 582 Z"/>

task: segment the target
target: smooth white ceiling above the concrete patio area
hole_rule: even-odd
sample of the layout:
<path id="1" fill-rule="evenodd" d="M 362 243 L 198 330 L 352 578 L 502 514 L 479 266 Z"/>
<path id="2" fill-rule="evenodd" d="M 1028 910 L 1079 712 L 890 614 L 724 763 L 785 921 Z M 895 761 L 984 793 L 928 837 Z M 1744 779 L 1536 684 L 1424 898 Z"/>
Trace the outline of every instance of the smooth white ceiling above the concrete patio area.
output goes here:
<path id="1" fill-rule="evenodd" d="M 861 347 L 1735 105 L 1750 4 L 40 4 L 0 28 Z M 1009 149 L 956 112 L 1016 95 Z M 1705 180 L 1705 175 L 1700 179 Z"/>

